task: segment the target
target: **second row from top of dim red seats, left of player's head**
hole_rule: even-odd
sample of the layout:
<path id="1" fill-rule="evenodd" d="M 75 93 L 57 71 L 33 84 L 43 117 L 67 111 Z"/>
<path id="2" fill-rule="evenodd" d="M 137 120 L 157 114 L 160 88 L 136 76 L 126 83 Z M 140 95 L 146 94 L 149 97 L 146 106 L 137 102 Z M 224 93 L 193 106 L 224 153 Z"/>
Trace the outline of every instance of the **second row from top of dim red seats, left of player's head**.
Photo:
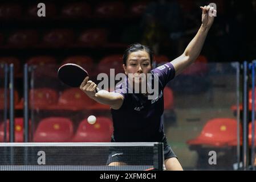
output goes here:
<path id="1" fill-rule="evenodd" d="M 9 35 L 0 35 L 0 45 L 6 48 L 15 47 L 125 47 L 127 44 L 109 43 L 107 28 L 89 28 L 82 32 L 71 29 L 54 29 L 43 32 L 36 30 L 17 30 Z"/>

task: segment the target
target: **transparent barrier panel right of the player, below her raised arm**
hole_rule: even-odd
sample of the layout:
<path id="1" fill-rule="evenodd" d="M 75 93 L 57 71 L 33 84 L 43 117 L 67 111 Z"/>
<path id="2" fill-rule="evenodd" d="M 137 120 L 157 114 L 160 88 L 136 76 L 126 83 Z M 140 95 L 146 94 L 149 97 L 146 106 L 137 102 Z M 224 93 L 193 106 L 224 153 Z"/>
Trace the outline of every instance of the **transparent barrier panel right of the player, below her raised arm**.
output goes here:
<path id="1" fill-rule="evenodd" d="M 238 66 L 195 63 L 167 85 L 165 133 L 184 169 L 235 169 Z"/>

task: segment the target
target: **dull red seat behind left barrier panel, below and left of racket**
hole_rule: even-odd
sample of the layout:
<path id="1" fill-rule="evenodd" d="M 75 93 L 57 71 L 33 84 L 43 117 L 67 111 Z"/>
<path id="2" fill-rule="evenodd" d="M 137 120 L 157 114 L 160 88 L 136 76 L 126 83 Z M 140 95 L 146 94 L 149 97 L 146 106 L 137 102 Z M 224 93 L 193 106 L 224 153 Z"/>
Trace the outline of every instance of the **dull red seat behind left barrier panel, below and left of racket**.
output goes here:
<path id="1" fill-rule="evenodd" d="M 34 109 L 47 109 L 58 104 L 58 93 L 50 88 L 30 90 L 30 105 Z"/>

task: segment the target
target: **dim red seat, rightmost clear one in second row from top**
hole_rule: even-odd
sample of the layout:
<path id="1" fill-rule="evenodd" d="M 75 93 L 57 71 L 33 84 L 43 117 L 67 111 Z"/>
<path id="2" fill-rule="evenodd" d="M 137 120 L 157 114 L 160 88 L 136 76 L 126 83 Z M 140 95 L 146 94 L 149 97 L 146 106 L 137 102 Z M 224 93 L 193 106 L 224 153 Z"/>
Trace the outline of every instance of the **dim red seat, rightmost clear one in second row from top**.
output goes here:
<path id="1" fill-rule="evenodd" d="M 107 42 L 107 30 L 104 28 L 94 28 L 82 32 L 78 38 L 79 44 L 84 46 L 103 46 Z"/>

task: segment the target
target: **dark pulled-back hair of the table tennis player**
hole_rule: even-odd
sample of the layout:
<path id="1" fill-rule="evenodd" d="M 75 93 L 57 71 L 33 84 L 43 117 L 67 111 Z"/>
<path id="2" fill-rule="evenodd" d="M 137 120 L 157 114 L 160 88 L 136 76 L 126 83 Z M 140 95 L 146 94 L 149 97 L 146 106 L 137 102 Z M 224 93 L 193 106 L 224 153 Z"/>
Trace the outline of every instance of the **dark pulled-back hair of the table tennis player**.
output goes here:
<path id="1" fill-rule="evenodd" d="M 140 43 L 135 43 L 131 44 L 128 49 L 124 51 L 124 56 L 123 56 L 123 61 L 124 65 L 126 65 L 126 61 L 128 59 L 128 56 L 131 52 L 136 52 L 136 51 L 146 51 L 149 54 L 150 62 L 152 64 L 153 61 L 153 51 L 148 46 L 143 46 Z"/>

